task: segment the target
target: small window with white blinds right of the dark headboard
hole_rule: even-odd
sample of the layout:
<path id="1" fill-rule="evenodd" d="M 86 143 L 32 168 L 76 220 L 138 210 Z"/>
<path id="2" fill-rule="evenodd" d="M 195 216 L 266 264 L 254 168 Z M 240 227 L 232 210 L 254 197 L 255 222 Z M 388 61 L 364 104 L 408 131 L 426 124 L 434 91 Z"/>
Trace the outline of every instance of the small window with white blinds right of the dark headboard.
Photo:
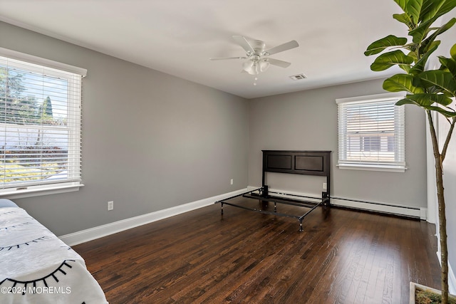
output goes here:
<path id="1" fill-rule="evenodd" d="M 404 172 L 405 112 L 396 106 L 403 94 L 337 99 L 338 166 Z"/>

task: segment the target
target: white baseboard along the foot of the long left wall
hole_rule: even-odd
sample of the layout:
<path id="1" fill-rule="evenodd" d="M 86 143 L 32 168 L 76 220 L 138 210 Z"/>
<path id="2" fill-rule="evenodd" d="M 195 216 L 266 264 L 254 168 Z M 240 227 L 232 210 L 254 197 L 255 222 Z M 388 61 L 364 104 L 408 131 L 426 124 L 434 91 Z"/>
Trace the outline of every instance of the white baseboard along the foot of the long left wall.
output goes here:
<path id="1" fill-rule="evenodd" d="M 154 211 L 150 214 L 142 214 L 140 216 L 135 216 L 130 219 L 123 219 L 121 221 L 115 221 L 110 224 L 105 224 L 83 231 L 78 231 L 73 234 L 66 234 L 64 236 L 59 236 L 58 238 L 61 239 L 64 243 L 66 243 L 68 246 L 74 246 L 78 245 L 79 243 L 85 243 L 87 241 L 92 241 L 103 236 L 116 234 L 120 231 L 132 229 L 144 224 L 149 224 L 153 221 L 159 221 L 160 219 L 166 219 L 170 216 L 175 216 L 177 214 L 182 214 L 187 211 L 192 211 L 198 208 L 202 208 L 204 206 L 209 206 L 210 204 L 214 204 L 215 201 L 219 201 L 221 199 L 226 199 L 227 197 L 242 194 L 246 191 L 247 189 L 239 189 L 237 191 L 229 192 L 227 194 L 220 194 L 217 196 L 209 197 L 207 199 L 192 201 L 187 204 L 182 204 L 168 209 Z"/>

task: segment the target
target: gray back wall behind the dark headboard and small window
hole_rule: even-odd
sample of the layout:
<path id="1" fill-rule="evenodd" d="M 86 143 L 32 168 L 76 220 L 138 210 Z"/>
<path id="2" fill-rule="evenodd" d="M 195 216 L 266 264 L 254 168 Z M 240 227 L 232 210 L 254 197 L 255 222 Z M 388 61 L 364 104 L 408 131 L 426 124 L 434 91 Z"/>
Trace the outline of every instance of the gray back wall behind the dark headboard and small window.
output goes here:
<path id="1" fill-rule="evenodd" d="M 249 185 L 261 186 L 261 150 L 331 150 L 332 196 L 426 207 L 425 117 L 418 108 L 405 106 L 405 173 L 336 167 L 336 98 L 385 93 L 382 83 L 371 80 L 252 100 Z M 266 183 L 289 191 L 321 192 L 321 181 L 314 182 L 314 177 L 282 175 L 268 174 Z"/>

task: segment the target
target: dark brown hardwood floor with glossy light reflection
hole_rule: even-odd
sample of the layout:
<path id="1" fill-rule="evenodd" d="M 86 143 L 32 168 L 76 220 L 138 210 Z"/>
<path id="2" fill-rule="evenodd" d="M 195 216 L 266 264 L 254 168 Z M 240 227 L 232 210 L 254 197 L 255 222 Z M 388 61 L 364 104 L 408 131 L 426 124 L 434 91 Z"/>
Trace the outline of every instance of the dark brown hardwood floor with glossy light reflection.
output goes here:
<path id="1" fill-rule="evenodd" d="M 318 207 L 298 223 L 214 204 L 73 248 L 113 304 L 395 304 L 410 281 L 439 288 L 425 221 Z"/>

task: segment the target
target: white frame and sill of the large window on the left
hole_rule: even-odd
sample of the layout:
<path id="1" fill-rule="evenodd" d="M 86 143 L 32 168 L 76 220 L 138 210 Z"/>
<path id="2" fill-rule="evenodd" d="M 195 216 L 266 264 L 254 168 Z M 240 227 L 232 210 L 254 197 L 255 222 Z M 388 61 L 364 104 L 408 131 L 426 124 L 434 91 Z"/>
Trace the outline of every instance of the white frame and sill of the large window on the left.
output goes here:
<path id="1" fill-rule="evenodd" d="M 53 77 L 63 78 L 68 81 L 68 166 L 75 167 L 75 170 L 68 169 L 66 179 L 58 180 L 57 182 L 36 182 L 24 183 L 24 186 L 19 184 L 19 187 L 6 187 L 5 184 L 0 185 L 0 197 L 8 199 L 18 199 L 22 197 L 57 194 L 64 192 L 78 191 L 83 187 L 81 180 L 81 122 L 82 122 L 82 78 L 87 75 L 87 70 L 78 68 L 73 65 L 50 61 L 46 58 L 39 58 L 17 51 L 11 51 L 6 48 L 0 48 L 0 56 L 6 58 L 8 65 L 27 66 L 26 70 L 31 73 L 50 73 Z M 19 63 L 17 63 L 19 61 Z M 24 65 L 22 65 L 24 64 Z M 71 106 L 70 106 L 71 105 Z M 40 126 L 34 125 L 35 127 Z M 41 125 L 43 127 L 44 125 Z"/>

